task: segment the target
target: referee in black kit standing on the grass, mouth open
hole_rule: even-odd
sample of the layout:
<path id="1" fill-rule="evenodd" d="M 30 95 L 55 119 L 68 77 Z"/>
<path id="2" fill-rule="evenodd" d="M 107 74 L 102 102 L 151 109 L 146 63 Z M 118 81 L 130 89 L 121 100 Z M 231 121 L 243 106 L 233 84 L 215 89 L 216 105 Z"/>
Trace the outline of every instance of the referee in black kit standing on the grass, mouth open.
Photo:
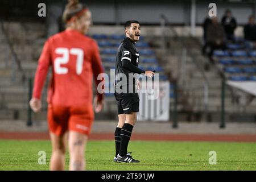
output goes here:
<path id="1" fill-rule="evenodd" d="M 137 120 L 137 112 L 139 111 L 139 96 L 138 93 L 135 93 L 135 85 L 137 84 L 140 87 L 139 82 L 136 82 L 136 79 L 130 77 L 130 75 L 144 73 L 145 76 L 152 77 L 154 76 L 154 72 L 143 71 L 138 68 L 139 52 L 135 45 L 141 35 L 139 22 L 137 20 L 127 21 L 125 23 L 125 33 L 126 38 L 119 45 L 115 60 L 114 95 L 117 101 L 118 125 L 114 133 L 114 162 L 138 163 L 139 160 L 131 157 L 131 152 L 127 153 L 127 146 Z M 120 92 L 120 90 L 123 92 Z"/>

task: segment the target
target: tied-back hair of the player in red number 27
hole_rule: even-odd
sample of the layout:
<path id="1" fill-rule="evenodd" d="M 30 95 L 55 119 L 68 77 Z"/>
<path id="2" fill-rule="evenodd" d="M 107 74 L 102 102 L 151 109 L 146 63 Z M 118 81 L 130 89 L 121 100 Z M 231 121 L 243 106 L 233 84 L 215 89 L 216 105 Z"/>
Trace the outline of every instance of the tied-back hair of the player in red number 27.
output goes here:
<path id="1" fill-rule="evenodd" d="M 80 13 L 88 10 L 85 5 L 79 3 L 79 0 L 68 0 L 68 4 L 65 6 L 63 12 L 62 20 L 65 23 L 68 23 L 72 18 L 79 18 Z"/>

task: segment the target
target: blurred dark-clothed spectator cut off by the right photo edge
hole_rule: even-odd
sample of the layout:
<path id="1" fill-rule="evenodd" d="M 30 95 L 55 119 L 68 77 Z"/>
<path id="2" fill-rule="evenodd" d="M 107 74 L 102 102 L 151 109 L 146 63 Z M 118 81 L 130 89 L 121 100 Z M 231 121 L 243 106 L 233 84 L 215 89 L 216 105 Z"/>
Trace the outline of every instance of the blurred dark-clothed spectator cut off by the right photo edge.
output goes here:
<path id="1" fill-rule="evenodd" d="M 251 48 L 256 46 L 256 24 L 253 15 L 249 16 L 249 22 L 243 27 L 243 34 Z"/>

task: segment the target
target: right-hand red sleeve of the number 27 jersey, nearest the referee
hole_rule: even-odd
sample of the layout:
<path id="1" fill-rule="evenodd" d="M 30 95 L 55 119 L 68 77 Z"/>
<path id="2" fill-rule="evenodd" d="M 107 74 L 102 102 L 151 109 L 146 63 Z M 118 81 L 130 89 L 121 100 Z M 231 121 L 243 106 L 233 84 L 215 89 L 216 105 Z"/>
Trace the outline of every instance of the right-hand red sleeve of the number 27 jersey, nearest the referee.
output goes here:
<path id="1" fill-rule="evenodd" d="M 92 71 L 93 71 L 93 78 L 96 83 L 96 88 L 98 88 L 98 84 L 100 84 L 102 80 L 97 80 L 97 77 L 100 73 L 104 73 L 104 68 L 102 66 L 100 51 L 96 42 L 93 42 Z M 104 85 L 102 86 L 102 89 L 104 89 Z M 104 94 L 99 93 L 98 90 L 97 90 L 97 96 L 100 101 L 104 98 Z"/>

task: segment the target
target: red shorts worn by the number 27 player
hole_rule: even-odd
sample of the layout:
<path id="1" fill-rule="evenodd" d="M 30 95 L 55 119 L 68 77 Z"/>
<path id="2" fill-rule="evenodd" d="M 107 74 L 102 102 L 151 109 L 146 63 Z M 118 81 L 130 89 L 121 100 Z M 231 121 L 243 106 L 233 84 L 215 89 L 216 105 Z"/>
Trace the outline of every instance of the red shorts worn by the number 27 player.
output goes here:
<path id="1" fill-rule="evenodd" d="M 94 119 L 93 106 L 66 107 L 49 104 L 47 118 L 49 130 L 57 136 L 66 131 L 89 135 Z"/>

